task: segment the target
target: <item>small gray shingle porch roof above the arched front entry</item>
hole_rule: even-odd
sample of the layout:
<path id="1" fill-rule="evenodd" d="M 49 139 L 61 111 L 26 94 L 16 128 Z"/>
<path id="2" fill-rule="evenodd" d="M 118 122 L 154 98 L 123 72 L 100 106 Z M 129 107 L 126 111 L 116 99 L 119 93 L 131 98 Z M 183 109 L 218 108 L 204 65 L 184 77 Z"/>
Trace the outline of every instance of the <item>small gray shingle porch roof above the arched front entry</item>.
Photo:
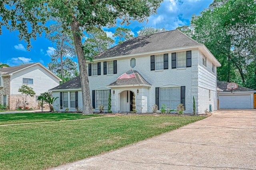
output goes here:
<path id="1" fill-rule="evenodd" d="M 134 85 L 134 84 L 140 84 L 140 85 L 148 85 L 151 86 L 151 84 L 146 81 L 137 71 L 134 70 L 134 74 L 136 78 L 129 78 L 129 79 L 117 79 L 116 81 L 112 82 L 108 86 L 125 86 L 125 85 Z"/>

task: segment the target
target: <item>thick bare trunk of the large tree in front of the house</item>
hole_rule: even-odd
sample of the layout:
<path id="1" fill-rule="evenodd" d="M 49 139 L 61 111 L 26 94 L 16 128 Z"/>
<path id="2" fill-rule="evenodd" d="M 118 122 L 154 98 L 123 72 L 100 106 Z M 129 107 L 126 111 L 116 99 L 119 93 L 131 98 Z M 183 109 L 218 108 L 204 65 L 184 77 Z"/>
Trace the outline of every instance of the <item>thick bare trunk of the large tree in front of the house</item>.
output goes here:
<path id="1" fill-rule="evenodd" d="M 84 59 L 84 51 L 82 49 L 82 39 L 80 36 L 79 22 L 76 21 L 76 17 L 73 16 L 73 20 L 70 24 L 72 34 L 74 37 L 74 43 L 76 47 L 76 54 L 78 58 L 78 65 L 80 71 L 81 88 L 82 88 L 82 100 L 83 100 L 83 115 L 92 114 L 92 105 L 90 98 L 89 80 L 86 68 L 86 62 Z"/>

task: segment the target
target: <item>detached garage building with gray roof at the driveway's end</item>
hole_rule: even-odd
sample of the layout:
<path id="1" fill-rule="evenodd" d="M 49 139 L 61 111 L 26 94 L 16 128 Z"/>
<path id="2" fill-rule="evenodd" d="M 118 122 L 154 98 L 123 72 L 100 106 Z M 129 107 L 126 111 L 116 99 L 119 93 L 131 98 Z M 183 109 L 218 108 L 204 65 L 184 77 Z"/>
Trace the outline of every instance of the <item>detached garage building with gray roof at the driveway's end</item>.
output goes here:
<path id="1" fill-rule="evenodd" d="M 254 108 L 254 92 L 250 88 L 238 86 L 232 92 L 227 88 L 228 82 L 217 82 L 219 108 L 220 109 L 253 109 Z M 223 91 L 222 91 L 223 90 Z"/>

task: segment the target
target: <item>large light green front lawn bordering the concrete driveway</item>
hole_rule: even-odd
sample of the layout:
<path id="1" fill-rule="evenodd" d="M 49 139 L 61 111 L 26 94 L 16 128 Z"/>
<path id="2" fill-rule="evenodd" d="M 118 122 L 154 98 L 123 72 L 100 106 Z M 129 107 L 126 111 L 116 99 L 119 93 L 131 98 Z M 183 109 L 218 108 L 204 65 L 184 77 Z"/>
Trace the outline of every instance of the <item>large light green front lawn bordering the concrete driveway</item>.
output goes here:
<path id="1" fill-rule="evenodd" d="M 0 126 L 0 169 L 51 168 L 118 149 L 204 118 L 128 115 Z"/>

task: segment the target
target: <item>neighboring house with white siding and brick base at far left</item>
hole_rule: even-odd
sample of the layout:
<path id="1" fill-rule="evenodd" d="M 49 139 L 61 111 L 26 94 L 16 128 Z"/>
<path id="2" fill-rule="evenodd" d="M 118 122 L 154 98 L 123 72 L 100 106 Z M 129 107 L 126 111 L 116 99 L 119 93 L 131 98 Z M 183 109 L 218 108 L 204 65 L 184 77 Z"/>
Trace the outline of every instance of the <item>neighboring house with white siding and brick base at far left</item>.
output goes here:
<path id="1" fill-rule="evenodd" d="M 0 104 L 9 106 L 10 109 L 24 107 L 25 94 L 18 92 L 18 89 L 26 84 L 36 93 L 34 97 L 27 96 L 26 107 L 38 109 L 37 97 L 58 86 L 60 81 L 60 78 L 40 63 L 0 68 Z"/>

